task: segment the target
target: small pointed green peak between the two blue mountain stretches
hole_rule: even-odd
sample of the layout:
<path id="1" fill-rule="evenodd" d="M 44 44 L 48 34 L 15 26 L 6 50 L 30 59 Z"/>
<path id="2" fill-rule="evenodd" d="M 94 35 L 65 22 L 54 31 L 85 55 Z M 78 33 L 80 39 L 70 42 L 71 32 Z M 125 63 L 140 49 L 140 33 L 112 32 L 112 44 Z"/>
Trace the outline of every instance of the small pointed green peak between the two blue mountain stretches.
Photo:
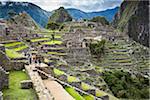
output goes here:
<path id="1" fill-rule="evenodd" d="M 52 15 L 49 18 L 49 21 L 62 23 L 72 21 L 72 17 L 64 7 L 60 7 L 59 9 L 53 11 Z"/>

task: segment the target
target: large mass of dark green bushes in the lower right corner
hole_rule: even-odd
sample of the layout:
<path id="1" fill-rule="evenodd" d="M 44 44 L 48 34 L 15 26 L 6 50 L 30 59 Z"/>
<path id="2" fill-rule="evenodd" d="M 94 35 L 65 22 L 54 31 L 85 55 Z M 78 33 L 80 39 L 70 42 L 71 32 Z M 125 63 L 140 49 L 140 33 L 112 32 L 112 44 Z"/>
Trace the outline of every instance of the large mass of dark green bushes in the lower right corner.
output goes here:
<path id="1" fill-rule="evenodd" d="M 118 98 L 148 99 L 149 79 L 140 75 L 130 75 L 128 72 L 114 70 L 105 72 L 104 80 Z"/>

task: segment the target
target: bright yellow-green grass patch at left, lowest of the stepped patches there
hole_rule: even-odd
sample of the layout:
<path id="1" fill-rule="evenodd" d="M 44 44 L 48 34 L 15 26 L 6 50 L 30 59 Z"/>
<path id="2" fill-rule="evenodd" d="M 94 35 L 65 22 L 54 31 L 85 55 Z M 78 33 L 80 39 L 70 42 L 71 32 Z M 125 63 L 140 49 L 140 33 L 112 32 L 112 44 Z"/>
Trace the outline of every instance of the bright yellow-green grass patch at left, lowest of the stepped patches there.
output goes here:
<path id="1" fill-rule="evenodd" d="M 12 50 L 12 49 L 6 49 L 6 55 L 9 58 L 22 58 L 22 57 L 24 57 L 24 55 Z"/>

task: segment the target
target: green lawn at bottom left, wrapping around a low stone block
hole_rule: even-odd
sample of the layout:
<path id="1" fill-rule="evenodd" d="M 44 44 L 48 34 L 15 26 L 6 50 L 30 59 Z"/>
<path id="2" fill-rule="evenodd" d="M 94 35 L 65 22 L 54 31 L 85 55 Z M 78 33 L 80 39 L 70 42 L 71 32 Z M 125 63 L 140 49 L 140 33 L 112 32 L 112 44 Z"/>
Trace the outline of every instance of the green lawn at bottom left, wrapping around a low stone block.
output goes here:
<path id="1" fill-rule="evenodd" d="M 36 94 L 33 89 L 21 89 L 20 82 L 29 79 L 22 71 L 12 71 L 9 74 L 9 89 L 5 89 L 4 100 L 35 100 Z"/>

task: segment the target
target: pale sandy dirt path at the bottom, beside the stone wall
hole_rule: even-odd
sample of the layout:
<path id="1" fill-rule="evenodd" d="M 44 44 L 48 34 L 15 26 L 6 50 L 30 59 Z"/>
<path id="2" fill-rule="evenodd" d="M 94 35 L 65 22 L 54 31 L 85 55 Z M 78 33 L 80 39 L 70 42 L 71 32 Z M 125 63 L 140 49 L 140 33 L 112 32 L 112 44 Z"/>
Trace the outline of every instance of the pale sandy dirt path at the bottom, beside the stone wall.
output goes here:
<path id="1" fill-rule="evenodd" d="M 75 100 L 64 88 L 56 81 L 44 80 L 45 86 L 49 89 L 55 100 Z"/>

